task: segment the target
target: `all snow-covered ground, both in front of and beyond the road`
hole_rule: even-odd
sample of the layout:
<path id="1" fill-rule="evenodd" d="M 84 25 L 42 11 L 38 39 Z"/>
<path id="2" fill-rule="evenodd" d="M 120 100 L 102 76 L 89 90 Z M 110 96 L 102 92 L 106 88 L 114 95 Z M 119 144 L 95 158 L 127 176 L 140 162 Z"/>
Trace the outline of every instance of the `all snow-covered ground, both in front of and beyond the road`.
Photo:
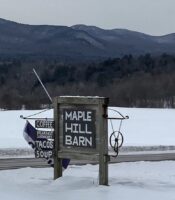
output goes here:
<path id="1" fill-rule="evenodd" d="M 175 146 L 174 109 L 116 109 L 130 117 L 121 129 L 125 147 Z M 23 139 L 25 120 L 20 115 L 34 113 L 0 111 L 0 150 L 30 149 Z M 109 111 L 109 116 L 116 115 Z M 38 117 L 52 117 L 52 110 Z M 113 126 L 118 130 L 119 121 Z M 98 185 L 98 165 L 69 166 L 56 181 L 52 168 L 0 171 L 2 200 L 175 200 L 174 188 L 175 161 L 110 164 L 109 186 Z"/>

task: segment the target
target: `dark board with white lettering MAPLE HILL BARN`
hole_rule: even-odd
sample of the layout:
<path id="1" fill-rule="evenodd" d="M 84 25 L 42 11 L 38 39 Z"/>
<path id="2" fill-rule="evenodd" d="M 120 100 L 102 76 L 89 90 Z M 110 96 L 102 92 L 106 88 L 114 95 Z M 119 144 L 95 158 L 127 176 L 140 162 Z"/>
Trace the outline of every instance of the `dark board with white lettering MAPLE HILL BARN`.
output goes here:
<path id="1" fill-rule="evenodd" d="M 95 148 L 95 110 L 63 110 L 64 146 Z"/>

